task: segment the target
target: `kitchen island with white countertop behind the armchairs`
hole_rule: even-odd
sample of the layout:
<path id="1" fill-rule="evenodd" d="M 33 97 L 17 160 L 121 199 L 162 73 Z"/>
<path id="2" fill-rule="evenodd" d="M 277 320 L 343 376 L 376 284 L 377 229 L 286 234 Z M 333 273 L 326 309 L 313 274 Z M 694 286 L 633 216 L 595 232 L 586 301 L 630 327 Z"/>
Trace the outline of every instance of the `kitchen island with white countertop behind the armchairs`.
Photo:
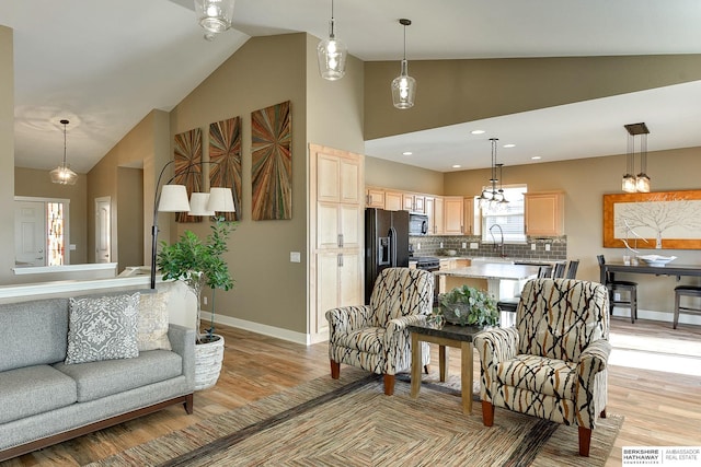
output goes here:
<path id="1" fill-rule="evenodd" d="M 510 299 L 519 293 L 527 280 L 538 276 L 538 266 L 510 262 L 472 262 L 471 266 L 435 272 L 439 292 L 468 284 L 486 290 L 497 300 Z"/>

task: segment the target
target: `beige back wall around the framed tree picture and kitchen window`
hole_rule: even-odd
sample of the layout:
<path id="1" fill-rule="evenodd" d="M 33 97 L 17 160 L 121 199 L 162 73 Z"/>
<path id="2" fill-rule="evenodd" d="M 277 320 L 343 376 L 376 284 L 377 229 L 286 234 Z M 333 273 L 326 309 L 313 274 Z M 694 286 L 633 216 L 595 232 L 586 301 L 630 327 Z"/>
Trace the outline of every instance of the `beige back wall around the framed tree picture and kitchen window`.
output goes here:
<path id="1" fill-rule="evenodd" d="M 565 234 L 568 259 L 579 259 L 577 278 L 599 279 L 596 256 L 621 259 L 625 249 L 604 248 L 602 196 L 621 192 L 625 156 L 614 155 L 577 161 L 562 161 L 504 167 L 504 184 L 527 184 L 529 191 L 561 189 L 565 191 Z M 647 174 L 654 191 L 699 189 L 701 148 L 651 152 Z M 446 195 L 476 195 L 489 179 L 487 171 L 445 174 Z M 701 265 L 699 250 L 642 250 L 641 254 L 674 255 L 679 264 Z M 671 312 L 675 278 L 621 276 L 640 283 L 639 306 L 642 310 Z M 683 278 L 683 283 L 694 283 Z M 696 280 L 696 282 L 699 282 Z"/>

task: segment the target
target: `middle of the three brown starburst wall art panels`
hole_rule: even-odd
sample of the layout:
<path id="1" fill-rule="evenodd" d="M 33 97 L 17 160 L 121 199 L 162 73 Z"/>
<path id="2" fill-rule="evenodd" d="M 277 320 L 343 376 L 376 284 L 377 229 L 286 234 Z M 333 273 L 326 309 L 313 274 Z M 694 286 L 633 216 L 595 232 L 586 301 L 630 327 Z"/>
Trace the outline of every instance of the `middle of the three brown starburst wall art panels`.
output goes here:
<path id="1" fill-rule="evenodd" d="M 241 118 L 209 124 L 209 186 L 231 188 L 235 212 L 222 212 L 227 221 L 241 220 Z"/>

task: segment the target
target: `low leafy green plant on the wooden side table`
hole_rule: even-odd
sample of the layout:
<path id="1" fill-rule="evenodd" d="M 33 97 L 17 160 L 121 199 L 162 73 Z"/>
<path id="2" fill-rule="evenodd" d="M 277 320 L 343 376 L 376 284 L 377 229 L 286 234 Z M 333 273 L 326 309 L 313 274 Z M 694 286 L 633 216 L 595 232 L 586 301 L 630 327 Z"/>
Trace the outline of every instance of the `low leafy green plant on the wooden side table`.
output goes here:
<path id="1" fill-rule="evenodd" d="M 470 285 L 452 289 L 438 296 L 439 306 L 434 310 L 432 320 L 444 320 L 460 326 L 498 326 L 499 313 L 496 300 L 486 291 Z"/>

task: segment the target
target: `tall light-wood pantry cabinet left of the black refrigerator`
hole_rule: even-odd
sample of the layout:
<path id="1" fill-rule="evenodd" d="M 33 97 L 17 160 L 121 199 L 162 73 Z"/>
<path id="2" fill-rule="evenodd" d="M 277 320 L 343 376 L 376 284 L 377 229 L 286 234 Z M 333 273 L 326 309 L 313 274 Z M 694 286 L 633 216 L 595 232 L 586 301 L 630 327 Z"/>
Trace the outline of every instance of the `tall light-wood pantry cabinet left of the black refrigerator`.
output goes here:
<path id="1" fill-rule="evenodd" d="M 309 145 L 309 334 L 329 337 L 325 313 L 363 300 L 365 157 Z"/>

